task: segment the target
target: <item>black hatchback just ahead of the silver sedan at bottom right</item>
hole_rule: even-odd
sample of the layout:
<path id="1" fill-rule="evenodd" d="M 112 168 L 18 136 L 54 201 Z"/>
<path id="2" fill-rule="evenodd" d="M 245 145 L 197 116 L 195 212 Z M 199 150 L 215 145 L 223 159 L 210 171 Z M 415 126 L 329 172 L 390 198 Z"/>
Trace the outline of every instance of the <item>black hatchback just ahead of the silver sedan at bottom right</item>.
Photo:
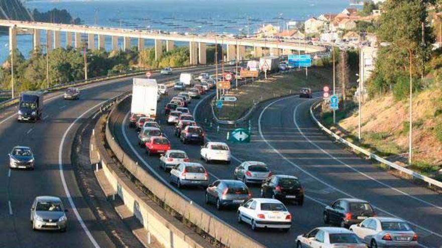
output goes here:
<path id="1" fill-rule="evenodd" d="M 338 199 L 326 206 L 323 212 L 324 223 L 339 224 L 341 227 L 359 224 L 373 216 L 376 213 L 368 201 L 352 198 Z"/>

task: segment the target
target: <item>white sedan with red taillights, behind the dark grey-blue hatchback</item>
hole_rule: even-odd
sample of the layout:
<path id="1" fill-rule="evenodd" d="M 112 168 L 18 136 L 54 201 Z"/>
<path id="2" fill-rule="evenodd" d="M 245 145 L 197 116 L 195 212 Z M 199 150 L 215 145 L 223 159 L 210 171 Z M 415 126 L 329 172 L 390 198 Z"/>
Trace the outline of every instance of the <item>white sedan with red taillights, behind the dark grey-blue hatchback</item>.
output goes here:
<path id="1" fill-rule="evenodd" d="M 265 227 L 288 231 L 292 225 L 292 215 L 279 200 L 252 198 L 238 208 L 238 222 L 243 221 L 250 224 L 252 230 Z"/>

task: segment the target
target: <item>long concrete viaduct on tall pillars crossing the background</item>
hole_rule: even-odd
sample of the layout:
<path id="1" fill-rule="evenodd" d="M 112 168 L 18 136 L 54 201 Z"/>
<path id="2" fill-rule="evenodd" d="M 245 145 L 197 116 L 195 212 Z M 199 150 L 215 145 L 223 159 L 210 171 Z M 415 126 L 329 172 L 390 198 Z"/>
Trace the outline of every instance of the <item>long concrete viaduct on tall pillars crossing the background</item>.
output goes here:
<path id="1" fill-rule="evenodd" d="M 257 39 L 236 39 L 221 36 L 194 36 L 194 35 L 171 35 L 159 34 L 142 30 L 116 29 L 103 27 L 89 27 L 81 25 L 37 23 L 26 21 L 0 20 L 0 26 L 9 27 L 9 49 L 17 48 L 17 34 L 25 33 L 33 35 L 33 48 L 40 47 L 40 36 L 42 31 L 46 35 L 47 48 L 52 50 L 61 47 L 60 36 L 63 32 L 66 35 L 66 47 L 71 46 L 82 49 L 81 35 L 87 36 L 88 49 L 104 49 L 104 37 L 112 37 L 112 49 L 118 50 L 118 39 L 123 38 L 123 49 L 129 50 L 131 39 L 138 40 L 138 49 L 144 48 L 144 40 L 154 40 L 155 59 L 158 60 L 163 52 L 163 41 L 166 43 L 166 50 L 173 49 L 174 42 L 188 42 L 190 50 L 191 65 L 206 64 L 206 44 L 220 44 L 227 47 L 227 61 L 243 59 L 246 57 L 246 47 L 253 47 L 254 57 L 261 57 L 265 54 L 279 56 L 288 55 L 296 51 L 304 53 L 315 53 L 324 51 L 324 47 L 299 44 L 296 42 L 263 41 Z M 95 36 L 98 36 L 95 46 Z M 268 50 L 268 53 L 267 51 Z M 264 52 L 265 51 L 265 52 Z"/>

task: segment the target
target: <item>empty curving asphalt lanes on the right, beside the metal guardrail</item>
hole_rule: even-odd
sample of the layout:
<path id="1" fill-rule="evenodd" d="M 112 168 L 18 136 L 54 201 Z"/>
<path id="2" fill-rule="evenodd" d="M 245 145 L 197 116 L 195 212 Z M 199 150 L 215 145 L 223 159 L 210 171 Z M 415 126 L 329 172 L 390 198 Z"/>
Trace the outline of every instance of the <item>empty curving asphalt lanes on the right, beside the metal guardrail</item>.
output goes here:
<path id="1" fill-rule="evenodd" d="M 383 214 L 389 215 L 387 213 L 391 213 L 402 217 L 411 223 L 414 223 L 414 229 L 420 232 L 419 234 L 421 234 L 421 236 L 426 236 L 425 239 L 428 239 L 423 240 L 423 243 L 434 245 L 442 242 L 442 240 L 440 240 L 440 236 L 428 236 L 430 234 L 429 231 L 434 231 L 436 232 L 435 235 L 440 235 L 440 225 L 438 224 L 440 222 L 440 214 L 437 207 L 429 206 L 406 195 L 398 195 L 396 190 L 371 180 L 358 172 L 355 172 L 347 166 L 342 165 L 337 160 L 330 158 L 330 156 L 317 149 L 317 147 L 314 147 L 308 143 L 305 139 L 303 139 L 298 130 L 293 128 L 295 125 L 293 123 L 294 109 L 296 106 L 299 106 L 297 113 L 299 113 L 300 116 L 296 116 L 296 120 L 299 122 L 299 129 L 301 131 L 306 130 L 305 133 L 308 131 L 306 135 L 310 135 L 312 139 L 319 139 L 319 141 L 315 142 L 318 142 L 320 146 L 328 143 L 327 146 L 331 146 L 326 147 L 328 152 L 330 152 L 330 154 L 333 153 L 336 157 L 341 157 L 341 161 L 346 161 L 346 163 L 354 166 L 363 167 L 365 169 L 365 173 L 369 173 L 370 176 L 376 178 L 376 180 L 380 182 L 384 182 L 387 185 L 390 181 L 394 181 L 396 186 L 401 186 L 399 188 L 400 190 L 410 192 L 410 194 L 414 194 L 415 197 L 420 198 L 422 196 L 434 195 L 435 200 L 437 200 L 439 196 L 435 195 L 430 190 L 426 190 L 425 188 L 396 178 L 374 167 L 367 161 L 356 157 L 350 152 L 342 150 L 339 146 L 329 141 L 328 138 L 318 131 L 318 129 L 315 128 L 314 124 L 310 121 L 310 118 L 308 117 L 308 108 L 310 104 L 306 102 L 304 104 L 297 105 L 295 101 L 295 99 L 286 99 L 277 102 L 274 104 L 274 106 L 272 106 L 271 109 L 267 109 L 268 112 L 264 112 L 263 120 L 265 121 L 262 122 L 263 136 L 266 140 L 269 140 L 268 142 L 275 147 L 275 149 L 277 149 L 282 156 L 288 158 L 296 165 L 315 175 L 316 178 L 314 181 L 316 181 L 316 183 L 317 179 L 319 179 L 328 185 L 333 185 L 329 187 L 329 191 L 327 194 L 324 194 L 325 197 L 323 197 L 323 199 L 329 199 L 331 201 L 336 199 L 335 195 L 338 194 L 341 195 L 340 197 L 355 196 L 369 200 L 379 208 L 378 212 L 380 212 L 380 209 L 382 209 L 384 210 Z M 285 111 L 281 111 L 283 106 L 291 107 L 289 109 L 284 109 Z M 277 119 L 275 118 L 275 115 L 281 116 L 280 119 L 283 123 L 282 126 L 285 128 L 283 128 L 283 131 L 277 130 L 277 132 L 282 132 L 285 136 L 284 138 L 272 137 L 275 130 L 275 125 L 271 123 L 271 120 Z M 302 125 L 300 123 L 302 123 Z M 314 151 L 313 153 L 315 154 L 314 156 L 311 156 L 311 154 L 305 155 L 305 151 Z M 305 159 L 306 157 L 309 157 L 309 159 Z M 349 180 L 352 182 L 356 181 L 357 183 L 349 184 Z M 424 193 L 416 194 L 415 192 Z M 333 196 L 333 198 L 330 198 L 329 196 Z M 319 195 L 317 197 L 319 197 Z M 417 210 L 413 211 L 413 216 L 410 216 L 410 208 Z M 436 218 L 437 221 L 434 221 L 434 218 Z"/>

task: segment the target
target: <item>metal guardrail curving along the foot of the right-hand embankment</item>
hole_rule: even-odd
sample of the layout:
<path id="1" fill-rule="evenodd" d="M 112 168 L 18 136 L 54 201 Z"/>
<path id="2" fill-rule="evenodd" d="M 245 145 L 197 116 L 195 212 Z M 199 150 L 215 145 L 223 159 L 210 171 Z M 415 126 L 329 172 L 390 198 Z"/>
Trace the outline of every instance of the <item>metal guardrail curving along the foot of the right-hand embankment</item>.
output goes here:
<path id="1" fill-rule="evenodd" d="M 386 160 L 386 159 L 384 159 L 382 157 L 379 157 L 378 155 L 376 155 L 374 153 L 371 153 L 370 151 L 368 151 L 368 150 L 366 150 L 364 148 L 361 148 L 361 147 L 359 147 L 359 146 L 357 146 L 357 145 L 355 145 L 355 144 L 353 144 L 353 143 L 343 139 L 341 136 L 337 135 L 336 133 L 332 132 L 328 128 L 324 127 L 316 119 L 316 117 L 313 114 L 313 109 L 317 108 L 320 105 L 320 103 L 321 103 L 321 101 L 318 101 L 318 102 L 316 102 L 316 103 L 314 103 L 313 105 L 310 106 L 310 115 L 311 115 L 311 118 L 314 120 L 314 122 L 316 122 L 316 124 L 319 126 L 319 128 L 322 131 L 326 132 L 327 134 L 329 134 L 330 136 L 335 138 L 337 141 L 339 141 L 341 143 L 344 143 L 347 146 L 351 147 L 353 150 L 359 151 L 362 154 L 367 155 L 370 159 L 375 159 L 376 161 L 387 165 L 389 168 L 394 168 L 394 169 L 399 170 L 399 171 L 401 171 L 403 173 L 406 173 L 406 174 L 410 175 L 413 179 L 420 179 L 420 180 L 422 180 L 424 182 L 427 182 L 428 186 L 430 186 L 430 187 L 432 185 L 434 185 L 434 186 L 439 187 L 440 189 L 442 189 L 442 182 L 434 180 L 434 179 L 429 178 L 427 176 L 421 175 L 421 174 L 416 173 L 416 172 L 414 172 L 414 171 L 412 171 L 410 169 L 404 168 L 404 167 L 402 167 L 400 165 L 397 165 L 397 164 L 395 164 L 393 162 L 390 162 L 390 161 L 388 161 L 388 160 Z"/>

